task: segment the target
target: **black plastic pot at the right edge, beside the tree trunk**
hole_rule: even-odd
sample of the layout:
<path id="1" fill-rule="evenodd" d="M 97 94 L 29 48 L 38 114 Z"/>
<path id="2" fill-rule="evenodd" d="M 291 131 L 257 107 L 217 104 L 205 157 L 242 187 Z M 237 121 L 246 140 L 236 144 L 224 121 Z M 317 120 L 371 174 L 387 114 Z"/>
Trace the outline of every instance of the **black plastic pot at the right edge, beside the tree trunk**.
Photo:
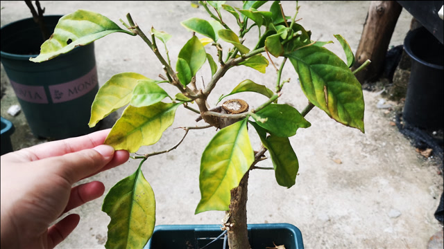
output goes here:
<path id="1" fill-rule="evenodd" d="M 422 27 L 407 34 L 404 49 L 412 61 L 402 117 L 413 127 L 443 129 L 443 44 Z"/>

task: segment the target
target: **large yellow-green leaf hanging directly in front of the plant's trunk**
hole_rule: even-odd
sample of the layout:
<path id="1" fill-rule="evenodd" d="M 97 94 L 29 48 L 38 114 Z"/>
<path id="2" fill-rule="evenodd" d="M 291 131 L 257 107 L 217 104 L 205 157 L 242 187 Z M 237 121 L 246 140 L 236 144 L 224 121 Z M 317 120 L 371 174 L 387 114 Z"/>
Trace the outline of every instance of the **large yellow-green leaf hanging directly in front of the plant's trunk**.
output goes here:
<path id="1" fill-rule="evenodd" d="M 200 202 L 196 214 L 210 210 L 228 210 L 230 190 L 255 160 L 244 119 L 221 129 L 203 151 L 200 161 Z"/>

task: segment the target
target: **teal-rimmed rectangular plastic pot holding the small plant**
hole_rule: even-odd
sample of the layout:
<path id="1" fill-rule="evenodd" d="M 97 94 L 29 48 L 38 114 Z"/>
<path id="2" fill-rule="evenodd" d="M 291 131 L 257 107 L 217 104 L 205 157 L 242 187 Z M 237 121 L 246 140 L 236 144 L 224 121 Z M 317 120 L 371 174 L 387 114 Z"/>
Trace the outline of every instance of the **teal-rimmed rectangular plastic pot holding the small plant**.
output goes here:
<path id="1" fill-rule="evenodd" d="M 221 225 L 156 225 L 144 249 L 199 249 L 221 233 Z M 273 242 L 286 249 L 304 248 L 300 230 L 289 223 L 249 224 L 248 239 L 251 248 L 273 248 Z M 222 248 L 223 237 L 205 249 Z"/>

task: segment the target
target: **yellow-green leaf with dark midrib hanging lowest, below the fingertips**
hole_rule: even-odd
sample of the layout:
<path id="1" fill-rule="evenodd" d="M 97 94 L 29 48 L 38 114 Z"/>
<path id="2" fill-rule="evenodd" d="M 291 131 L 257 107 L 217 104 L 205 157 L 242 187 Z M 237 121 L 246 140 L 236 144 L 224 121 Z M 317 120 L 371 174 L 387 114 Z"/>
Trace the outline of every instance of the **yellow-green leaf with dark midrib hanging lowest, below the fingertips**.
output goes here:
<path id="1" fill-rule="evenodd" d="M 103 200 L 102 211 L 111 218 L 105 248 L 145 246 L 153 235 L 155 199 L 140 166 L 111 188 Z"/>

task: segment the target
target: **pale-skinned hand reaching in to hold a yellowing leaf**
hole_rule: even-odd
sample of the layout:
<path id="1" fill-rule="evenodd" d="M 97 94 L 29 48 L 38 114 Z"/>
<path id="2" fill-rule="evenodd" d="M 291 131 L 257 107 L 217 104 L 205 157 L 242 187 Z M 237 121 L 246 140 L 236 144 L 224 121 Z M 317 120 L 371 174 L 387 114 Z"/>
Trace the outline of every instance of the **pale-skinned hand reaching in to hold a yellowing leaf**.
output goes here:
<path id="1" fill-rule="evenodd" d="M 125 163 L 128 151 L 103 145 L 110 130 L 47 142 L 1 156 L 1 248 L 54 248 L 80 221 L 62 214 L 102 196 L 83 178 Z"/>

